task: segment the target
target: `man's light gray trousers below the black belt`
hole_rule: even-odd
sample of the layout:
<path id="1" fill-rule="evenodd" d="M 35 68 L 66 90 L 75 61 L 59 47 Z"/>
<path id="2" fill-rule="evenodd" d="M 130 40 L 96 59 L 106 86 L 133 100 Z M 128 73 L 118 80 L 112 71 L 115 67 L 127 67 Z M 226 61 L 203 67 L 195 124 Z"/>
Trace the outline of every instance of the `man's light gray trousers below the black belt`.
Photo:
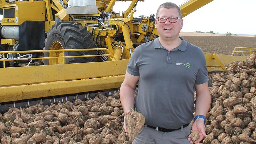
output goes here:
<path id="1" fill-rule="evenodd" d="M 172 132 L 160 132 L 144 126 L 132 144 L 189 144 L 190 125 Z"/>

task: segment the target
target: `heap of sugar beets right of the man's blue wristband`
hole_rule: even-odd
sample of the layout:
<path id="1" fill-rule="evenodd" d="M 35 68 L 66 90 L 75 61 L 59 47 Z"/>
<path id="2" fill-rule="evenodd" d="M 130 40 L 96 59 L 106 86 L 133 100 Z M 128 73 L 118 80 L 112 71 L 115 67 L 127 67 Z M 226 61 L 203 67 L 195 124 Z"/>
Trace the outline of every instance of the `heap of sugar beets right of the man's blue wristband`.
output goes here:
<path id="1" fill-rule="evenodd" d="M 256 53 L 213 76 L 206 144 L 256 143 Z M 212 75 L 211 75 L 212 76 Z M 196 96 L 195 96 L 196 97 Z M 191 122 L 192 124 L 192 122 Z"/>

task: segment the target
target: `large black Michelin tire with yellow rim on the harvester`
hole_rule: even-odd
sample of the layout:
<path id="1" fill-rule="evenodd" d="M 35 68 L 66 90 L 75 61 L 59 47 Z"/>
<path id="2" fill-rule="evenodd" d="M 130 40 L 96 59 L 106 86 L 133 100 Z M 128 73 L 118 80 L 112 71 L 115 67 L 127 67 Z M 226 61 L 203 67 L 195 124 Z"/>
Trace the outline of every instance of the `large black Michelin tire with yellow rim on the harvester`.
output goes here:
<path id="1" fill-rule="evenodd" d="M 59 22 L 52 26 L 45 39 L 44 50 L 84 49 L 95 45 L 87 27 L 73 22 Z M 44 52 L 44 57 L 95 55 L 97 51 Z M 95 57 L 43 59 L 44 65 L 92 62 Z"/>

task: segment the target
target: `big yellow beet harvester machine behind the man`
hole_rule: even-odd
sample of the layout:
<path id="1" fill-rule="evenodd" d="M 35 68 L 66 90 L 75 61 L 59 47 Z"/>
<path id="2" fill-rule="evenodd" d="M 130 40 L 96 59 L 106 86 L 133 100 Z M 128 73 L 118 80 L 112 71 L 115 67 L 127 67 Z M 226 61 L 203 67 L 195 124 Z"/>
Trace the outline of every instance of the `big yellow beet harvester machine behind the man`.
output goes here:
<path id="1" fill-rule="evenodd" d="M 75 1 L 75 0 L 73 0 Z M 78 0 L 81 1 L 81 0 Z M 86 100 L 117 92 L 133 50 L 158 36 L 154 15 L 133 18 L 136 4 L 112 10 L 116 0 L 0 0 L 0 112 L 43 102 Z M 190 0 L 183 17 L 213 0 Z M 72 6 L 72 4 L 74 4 Z M 68 6 L 69 5 L 69 6 Z M 205 53 L 209 72 L 246 57 Z M 24 61 L 40 66 L 8 67 Z"/>

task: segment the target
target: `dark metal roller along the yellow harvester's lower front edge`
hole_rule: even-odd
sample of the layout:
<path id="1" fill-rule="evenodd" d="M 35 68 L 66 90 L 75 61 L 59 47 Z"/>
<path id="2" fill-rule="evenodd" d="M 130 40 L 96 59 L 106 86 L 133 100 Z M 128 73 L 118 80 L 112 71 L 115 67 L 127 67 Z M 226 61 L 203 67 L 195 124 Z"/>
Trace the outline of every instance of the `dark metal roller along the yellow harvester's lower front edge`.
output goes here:
<path id="1" fill-rule="evenodd" d="M 108 97 L 114 93 L 117 93 L 119 90 L 110 90 L 101 92 L 102 95 Z M 70 95 L 61 95 L 61 96 L 54 96 L 54 97 L 47 97 L 42 99 L 30 99 L 30 100 L 22 100 L 17 102 L 7 102 L 7 103 L 0 103 L 0 113 L 5 113 L 9 110 L 9 108 L 28 108 L 29 106 L 42 103 L 43 105 L 50 105 L 58 104 L 59 101 L 61 103 L 70 101 L 75 102 L 77 99 L 81 99 L 82 101 L 86 101 L 88 99 L 93 99 L 98 95 L 98 92 L 90 92 L 90 93 L 78 93 L 78 94 L 70 94 Z"/>

